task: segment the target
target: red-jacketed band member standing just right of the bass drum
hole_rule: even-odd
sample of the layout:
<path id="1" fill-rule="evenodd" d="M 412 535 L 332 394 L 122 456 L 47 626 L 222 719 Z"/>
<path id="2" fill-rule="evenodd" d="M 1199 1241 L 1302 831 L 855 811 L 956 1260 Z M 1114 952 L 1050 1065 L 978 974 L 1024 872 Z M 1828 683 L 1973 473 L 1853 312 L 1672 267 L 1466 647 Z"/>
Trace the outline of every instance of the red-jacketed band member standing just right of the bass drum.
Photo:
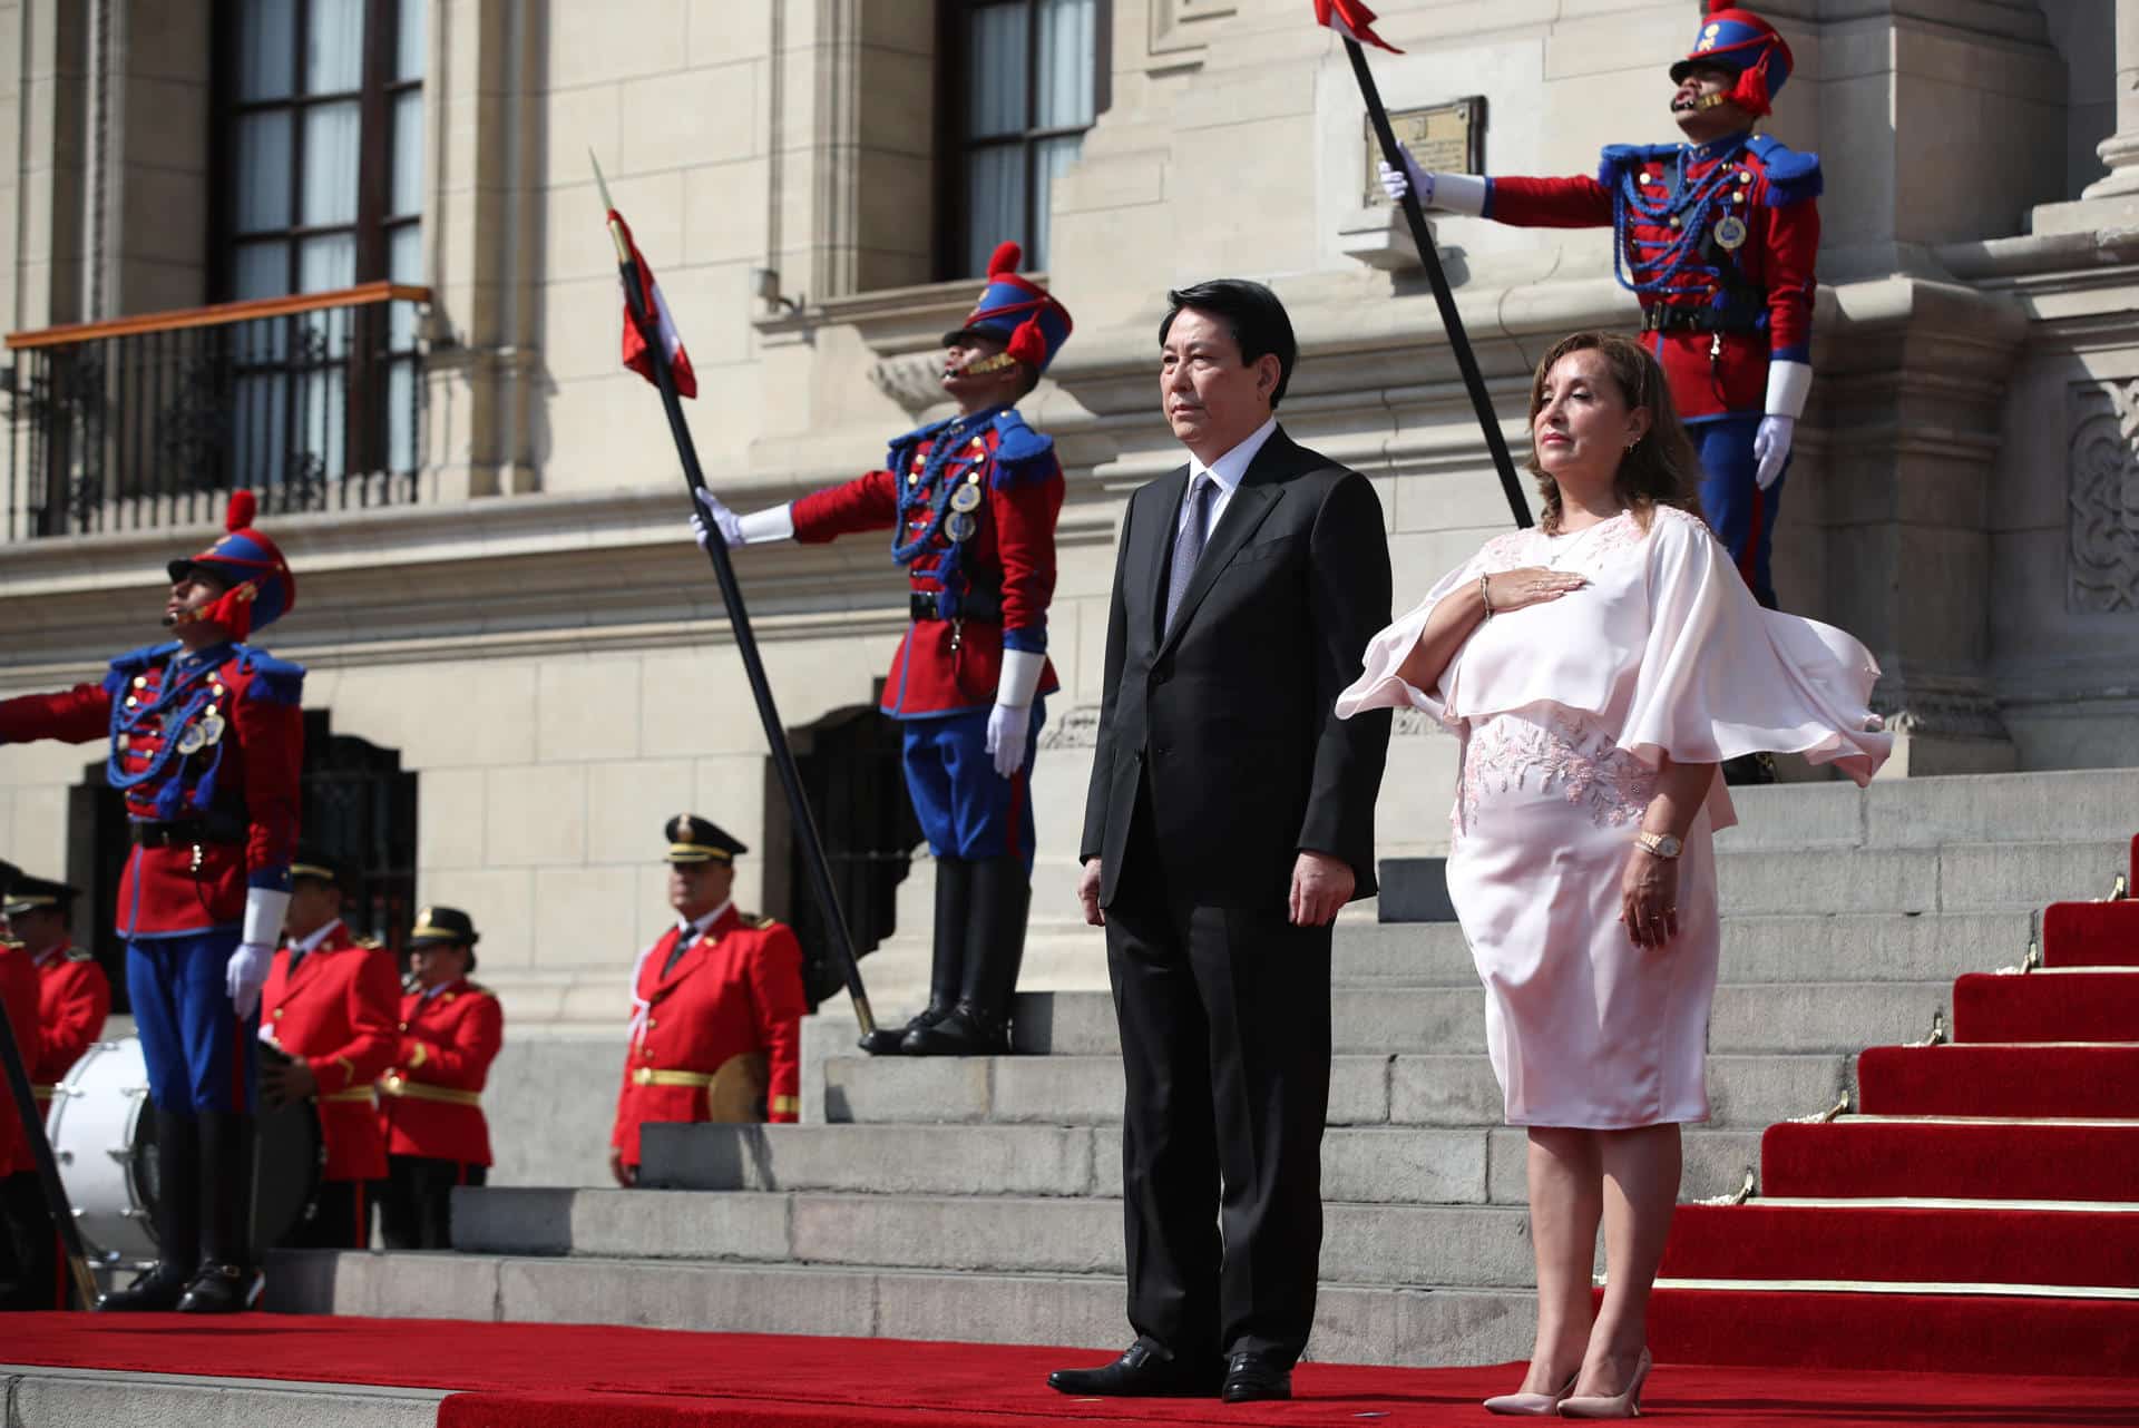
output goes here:
<path id="1" fill-rule="evenodd" d="M 284 1240 L 291 1248 L 366 1248 L 372 1186 L 387 1178 L 372 1080 L 394 1060 L 400 977 L 394 953 L 342 921 L 349 879 L 319 849 L 291 864 L 287 941 L 261 996 L 261 1067 L 270 1105 L 310 1099 L 327 1169 L 312 1212 Z"/>

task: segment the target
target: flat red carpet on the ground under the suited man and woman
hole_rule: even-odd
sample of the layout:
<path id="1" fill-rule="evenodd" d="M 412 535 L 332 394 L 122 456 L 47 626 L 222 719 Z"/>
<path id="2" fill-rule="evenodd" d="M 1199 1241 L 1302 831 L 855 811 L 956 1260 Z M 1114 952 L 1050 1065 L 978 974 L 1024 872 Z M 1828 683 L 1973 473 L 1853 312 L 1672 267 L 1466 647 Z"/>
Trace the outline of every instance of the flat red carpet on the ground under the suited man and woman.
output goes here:
<path id="1" fill-rule="evenodd" d="M 1664 1319 L 1673 1313 L 1673 1298 L 1658 1295 Z M 1718 1313 L 1735 1323 L 1733 1308 L 1720 1306 Z M 1816 1338 L 1822 1306 L 1801 1308 L 1810 1313 L 1790 1319 L 1788 1332 L 1812 1330 Z M 2028 1317 L 2032 1313 L 2030 1306 Z M 2004 1328 L 2013 1330 L 2011 1317 Z M 1743 1342 L 1760 1338 L 1748 1332 Z M 1104 1357 L 1104 1351 L 1091 1349 L 284 1315 L 212 1323 L 175 1315 L 19 1315 L 9 1323 L 4 1349 L 11 1364 L 456 1390 L 438 1407 L 443 1428 L 1482 1426 L 1497 1419 L 1478 1400 L 1512 1390 L 1521 1375 L 1517 1366 L 1307 1364 L 1296 1377 L 1301 1396 L 1294 1402 L 1247 1407 L 1074 1400 L 1044 1383 L 1048 1368 Z M 2100 1372 L 2130 1366 L 2126 1351 L 2122 1362 L 2105 1364 Z M 1927 1375 L 1902 1366 L 1884 1372 L 1748 1370 L 1666 1362 L 1649 1379 L 1643 1415 L 1686 1428 L 2107 1428 L 2133 1422 L 2130 1400 L 2130 1383 L 2115 1377 Z"/>

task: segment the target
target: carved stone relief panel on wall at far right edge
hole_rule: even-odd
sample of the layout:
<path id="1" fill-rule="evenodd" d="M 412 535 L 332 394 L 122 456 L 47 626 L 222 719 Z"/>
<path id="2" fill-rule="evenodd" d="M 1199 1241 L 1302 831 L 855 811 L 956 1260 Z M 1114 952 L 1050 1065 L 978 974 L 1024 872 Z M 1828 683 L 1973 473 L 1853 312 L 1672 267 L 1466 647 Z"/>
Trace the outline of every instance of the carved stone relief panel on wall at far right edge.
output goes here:
<path id="1" fill-rule="evenodd" d="M 2139 381 L 2071 389 L 2066 609 L 2139 609 Z"/>

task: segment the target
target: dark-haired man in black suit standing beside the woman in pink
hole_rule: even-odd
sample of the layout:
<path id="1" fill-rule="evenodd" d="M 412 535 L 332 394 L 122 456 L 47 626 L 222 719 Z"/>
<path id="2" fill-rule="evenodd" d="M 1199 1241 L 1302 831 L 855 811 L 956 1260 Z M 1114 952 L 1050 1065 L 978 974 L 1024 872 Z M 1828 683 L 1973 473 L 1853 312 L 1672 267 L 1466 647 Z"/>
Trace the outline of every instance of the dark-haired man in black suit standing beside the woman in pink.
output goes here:
<path id="1" fill-rule="evenodd" d="M 1288 1398 L 1315 1315 L 1330 919 L 1373 894 L 1388 716 L 1337 693 L 1388 624 L 1373 485 L 1273 415 L 1298 346 L 1256 282 L 1170 293 L 1189 464 L 1129 498 L 1084 806 L 1127 1069 L 1129 1323 L 1065 1394 Z M 1224 1186 L 1224 1189 L 1221 1189 Z"/>

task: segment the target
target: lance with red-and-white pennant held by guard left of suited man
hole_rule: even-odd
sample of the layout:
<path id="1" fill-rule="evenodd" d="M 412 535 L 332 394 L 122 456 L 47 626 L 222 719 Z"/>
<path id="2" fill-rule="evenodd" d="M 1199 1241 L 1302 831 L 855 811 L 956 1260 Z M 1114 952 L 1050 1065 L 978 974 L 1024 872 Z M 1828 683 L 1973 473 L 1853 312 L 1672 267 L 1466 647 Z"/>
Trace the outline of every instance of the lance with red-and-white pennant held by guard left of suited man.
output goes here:
<path id="1" fill-rule="evenodd" d="M 593 154 L 588 160 L 593 162 Z M 682 479 L 691 490 L 691 511 L 697 513 L 697 492 L 706 487 L 706 472 L 697 464 L 697 445 L 691 440 L 691 425 L 682 419 L 682 398 L 697 395 L 697 374 L 676 336 L 667 301 L 652 280 L 652 271 L 640 259 L 631 229 L 616 205 L 610 203 L 610 186 L 595 162 L 595 186 L 601 190 L 601 207 L 607 212 L 610 237 L 616 242 L 616 271 L 625 282 L 625 366 L 644 376 L 661 391 L 661 408 L 670 419 L 670 434 L 676 438 L 676 455 L 682 460 Z M 637 338 L 637 342 L 633 342 Z M 862 1026 L 862 1041 L 877 1030 L 877 1018 L 868 1009 L 868 992 L 862 988 L 862 966 L 853 953 L 853 934 L 847 917 L 838 911 L 838 889 L 832 885 L 832 864 L 824 855 L 824 840 L 817 836 L 817 819 L 811 817 L 809 800 L 802 795 L 802 778 L 796 774 L 796 757 L 787 746 L 787 727 L 772 703 L 772 684 L 766 680 L 766 663 L 757 654 L 757 635 L 751 633 L 751 611 L 742 605 L 742 586 L 736 584 L 736 566 L 727 558 L 727 545 L 719 539 L 706 541 L 706 556 L 712 560 L 712 577 L 721 584 L 721 603 L 727 607 L 727 622 L 736 631 L 736 652 L 742 654 L 742 671 L 751 680 L 751 697 L 757 701 L 757 718 L 766 727 L 766 746 L 772 750 L 772 767 L 781 776 L 781 793 L 787 795 L 787 812 L 794 819 L 794 836 L 802 844 L 802 862 L 809 866 L 811 887 L 817 906 L 832 926 L 832 947 L 838 951 L 838 971 L 853 1000 L 853 1020 Z"/>

